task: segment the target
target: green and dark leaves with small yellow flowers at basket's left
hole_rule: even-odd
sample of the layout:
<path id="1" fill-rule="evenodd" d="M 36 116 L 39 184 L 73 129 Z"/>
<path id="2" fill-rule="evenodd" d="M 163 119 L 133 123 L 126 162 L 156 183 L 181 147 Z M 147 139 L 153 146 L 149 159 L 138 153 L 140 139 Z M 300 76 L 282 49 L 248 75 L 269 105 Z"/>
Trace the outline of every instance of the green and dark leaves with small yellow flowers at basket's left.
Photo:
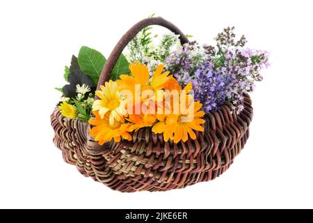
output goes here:
<path id="1" fill-rule="evenodd" d="M 95 89 L 106 58 L 97 50 L 83 46 L 78 57 L 72 56 L 71 66 L 65 66 L 63 77 L 68 84 L 55 88 L 62 93 L 59 107 L 68 117 L 87 122 L 91 116 Z M 129 74 L 129 62 L 121 54 L 111 72 L 111 79 Z M 67 112 L 66 112 L 67 111 Z"/>

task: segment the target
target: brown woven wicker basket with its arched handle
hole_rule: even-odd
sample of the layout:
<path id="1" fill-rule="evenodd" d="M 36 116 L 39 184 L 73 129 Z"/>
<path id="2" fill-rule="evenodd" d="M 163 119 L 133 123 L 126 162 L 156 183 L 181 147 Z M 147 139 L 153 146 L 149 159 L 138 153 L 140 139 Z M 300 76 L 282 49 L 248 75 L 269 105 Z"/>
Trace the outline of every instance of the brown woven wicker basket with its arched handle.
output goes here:
<path id="1" fill-rule="evenodd" d="M 182 43 L 188 42 L 176 26 L 161 17 L 138 22 L 113 49 L 98 89 L 109 79 L 115 61 L 129 40 L 143 27 L 152 24 L 165 26 L 179 34 Z M 81 174 L 113 190 L 153 192 L 183 188 L 223 174 L 246 144 L 252 107 L 250 97 L 243 96 L 244 109 L 239 115 L 232 113 L 231 105 L 226 103 L 218 111 L 204 116 L 204 132 L 196 132 L 197 139 L 178 144 L 165 142 L 162 134 L 143 128 L 131 133 L 132 141 L 111 141 L 99 146 L 90 138 L 88 123 L 65 118 L 56 108 L 51 114 L 54 144 L 61 149 L 65 162 L 76 165 Z"/>

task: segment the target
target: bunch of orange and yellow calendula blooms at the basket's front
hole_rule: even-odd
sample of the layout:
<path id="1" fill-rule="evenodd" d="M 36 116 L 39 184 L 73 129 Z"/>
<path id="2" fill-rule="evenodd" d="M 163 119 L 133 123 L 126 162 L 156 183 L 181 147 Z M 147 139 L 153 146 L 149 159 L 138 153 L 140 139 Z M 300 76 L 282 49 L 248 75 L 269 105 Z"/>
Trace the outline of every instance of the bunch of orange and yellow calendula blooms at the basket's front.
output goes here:
<path id="1" fill-rule="evenodd" d="M 95 118 L 89 121 L 95 141 L 104 144 L 112 139 L 131 140 L 129 132 L 152 127 L 153 132 L 163 134 L 165 141 L 178 143 L 188 137 L 195 139 L 194 130 L 204 130 L 202 104 L 189 95 L 191 83 L 182 90 L 170 72 L 163 72 L 163 65 L 157 67 L 151 79 L 147 66 L 139 62 L 131 63 L 129 70 L 132 76 L 120 75 L 118 81 L 110 80 L 95 92 L 99 100 L 93 105 Z M 171 100 L 170 90 L 182 99 L 178 104 Z"/>

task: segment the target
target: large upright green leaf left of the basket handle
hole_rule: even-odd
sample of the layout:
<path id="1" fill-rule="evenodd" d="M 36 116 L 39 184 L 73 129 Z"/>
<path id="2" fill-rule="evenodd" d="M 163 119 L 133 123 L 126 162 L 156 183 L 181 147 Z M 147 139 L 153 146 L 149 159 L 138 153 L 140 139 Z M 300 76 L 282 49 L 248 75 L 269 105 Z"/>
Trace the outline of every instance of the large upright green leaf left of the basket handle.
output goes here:
<path id="1" fill-rule="evenodd" d="M 78 61 L 81 70 L 93 79 L 93 84 L 97 85 L 106 58 L 95 49 L 81 47 Z"/>

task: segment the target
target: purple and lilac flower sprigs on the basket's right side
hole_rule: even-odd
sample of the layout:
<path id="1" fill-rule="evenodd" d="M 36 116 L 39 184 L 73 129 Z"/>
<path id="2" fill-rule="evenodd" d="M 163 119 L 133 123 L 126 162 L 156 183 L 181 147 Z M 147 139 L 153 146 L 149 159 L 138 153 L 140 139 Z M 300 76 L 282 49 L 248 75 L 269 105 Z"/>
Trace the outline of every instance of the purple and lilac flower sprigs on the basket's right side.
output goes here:
<path id="1" fill-rule="evenodd" d="M 205 112 L 226 101 L 241 112 L 243 94 L 253 91 L 255 81 L 263 79 L 261 70 L 268 67 L 268 52 L 245 49 L 246 38 L 235 41 L 235 36 L 234 27 L 228 27 L 218 33 L 216 47 L 187 43 L 166 59 L 166 68 L 179 84 L 193 83 L 195 100 L 202 102 Z"/>

